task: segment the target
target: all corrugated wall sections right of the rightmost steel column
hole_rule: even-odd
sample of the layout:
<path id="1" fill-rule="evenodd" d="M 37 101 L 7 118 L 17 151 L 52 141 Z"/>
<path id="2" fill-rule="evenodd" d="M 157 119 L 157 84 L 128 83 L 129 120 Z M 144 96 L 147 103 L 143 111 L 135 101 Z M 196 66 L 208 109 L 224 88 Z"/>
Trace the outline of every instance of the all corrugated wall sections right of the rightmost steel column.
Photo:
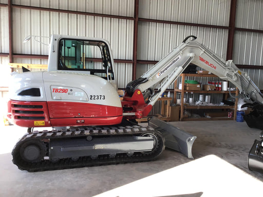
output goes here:
<path id="1" fill-rule="evenodd" d="M 263 1 L 238 0 L 236 27 L 263 30 Z M 263 65 L 263 33 L 236 31 L 234 36 L 233 61 L 241 65 Z M 248 72 L 252 80 L 263 89 L 263 71 L 261 69 L 242 69 Z"/>

